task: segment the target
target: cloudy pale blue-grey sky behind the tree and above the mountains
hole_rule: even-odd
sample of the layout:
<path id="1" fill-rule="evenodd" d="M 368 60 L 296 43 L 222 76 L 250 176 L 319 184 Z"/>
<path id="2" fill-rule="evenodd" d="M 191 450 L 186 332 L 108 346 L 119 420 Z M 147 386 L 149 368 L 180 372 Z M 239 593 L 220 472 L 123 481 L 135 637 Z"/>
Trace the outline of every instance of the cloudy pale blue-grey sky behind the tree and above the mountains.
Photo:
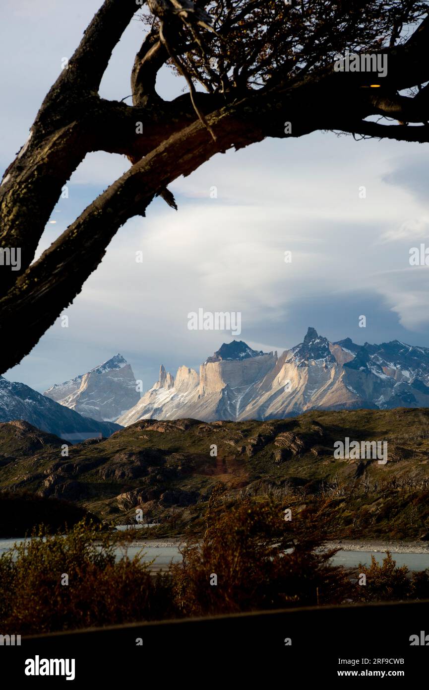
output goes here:
<path id="1" fill-rule="evenodd" d="M 99 6 L 101 0 L 1 0 L 1 172 Z M 123 34 L 103 77 L 104 98 L 130 95 L 145 30 L 135 19 Z M 157 88 L 172 99 L 183 81 L 164 69 Z M 123 156 L 88 155 L 37 256 L 128 167 Z M 198 371 L 233 339 L 228 331 L 190 331 L 188 313 L 199 308 L 241 313 L 236 339 L 279 354 L 302 342 L 308 326 L 331 342 L 429 346 L 429 267 L 409 261 L 410 248 L 429 247 L 428 173 L 428 144 L 333 132 L 216 155 L 170 186 L 177 212 L 155 199 L 146 218 L 119 230 L 63 311 L 68 328 L 57 319 L 4 375 L 45 391 L 121 353 L 146 390 L 160 364 L 173 375 L 182 364 Z"/>

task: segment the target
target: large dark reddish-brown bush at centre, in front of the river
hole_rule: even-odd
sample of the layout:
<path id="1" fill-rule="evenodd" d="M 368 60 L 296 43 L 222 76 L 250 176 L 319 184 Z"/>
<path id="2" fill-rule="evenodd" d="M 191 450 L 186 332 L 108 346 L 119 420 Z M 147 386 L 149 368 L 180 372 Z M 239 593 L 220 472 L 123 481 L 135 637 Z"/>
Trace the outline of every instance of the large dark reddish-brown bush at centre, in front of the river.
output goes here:
<path id="1" fill-rule="evenodd" d="M 323 515 L 306 507 L 285 521 L 274 502 L 238 502 L 226 512 L 221 490 L 210 499 L 202 540 L 181 548 L 172 564 L 174 603 L 182 615 L 341 603 L 350 593 L 337 550 L 321 551 Z"/>

